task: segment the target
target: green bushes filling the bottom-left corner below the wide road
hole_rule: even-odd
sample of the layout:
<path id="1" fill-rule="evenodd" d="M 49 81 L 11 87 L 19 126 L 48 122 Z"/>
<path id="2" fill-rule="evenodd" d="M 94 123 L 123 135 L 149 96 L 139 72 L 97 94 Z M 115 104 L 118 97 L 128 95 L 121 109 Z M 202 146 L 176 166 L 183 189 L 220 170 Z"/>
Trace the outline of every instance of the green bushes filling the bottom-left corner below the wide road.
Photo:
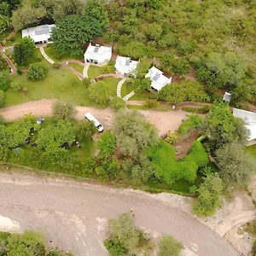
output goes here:
<path id="1" fill-rule="evenodd" d="M 6 255 L 72 256 L 59 248 L 48 251 L 42 234 L 25 231 L 23 234 L 0 232 L 0 253 Z"/>

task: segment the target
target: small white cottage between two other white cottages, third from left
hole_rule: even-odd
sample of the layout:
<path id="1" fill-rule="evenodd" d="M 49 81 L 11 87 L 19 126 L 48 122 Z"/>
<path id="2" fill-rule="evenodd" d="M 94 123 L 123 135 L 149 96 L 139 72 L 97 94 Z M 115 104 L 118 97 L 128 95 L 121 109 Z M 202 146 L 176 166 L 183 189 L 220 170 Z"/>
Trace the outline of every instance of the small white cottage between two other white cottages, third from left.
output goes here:
<path id="1" fill-rule="evenodd" d="M 139 61 L 132 61 L 131 58 L 117 56 L 114 67 L 118 73 L 135 74 Z"/>

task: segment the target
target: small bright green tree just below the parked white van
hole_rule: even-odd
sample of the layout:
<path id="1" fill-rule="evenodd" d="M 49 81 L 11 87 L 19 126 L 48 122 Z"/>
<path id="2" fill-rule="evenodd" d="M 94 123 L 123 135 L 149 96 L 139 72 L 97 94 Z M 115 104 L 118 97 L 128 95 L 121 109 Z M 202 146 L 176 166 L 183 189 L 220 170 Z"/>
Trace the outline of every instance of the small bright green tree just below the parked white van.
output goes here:
<path id="1" fill-rule="evenodd" d="M 103 133 L 97 141 L 97 148 L 99 149 L 98 156 L 100 158 L 107 158 L 115 151 L 116 137 L 110 131 Z"/>

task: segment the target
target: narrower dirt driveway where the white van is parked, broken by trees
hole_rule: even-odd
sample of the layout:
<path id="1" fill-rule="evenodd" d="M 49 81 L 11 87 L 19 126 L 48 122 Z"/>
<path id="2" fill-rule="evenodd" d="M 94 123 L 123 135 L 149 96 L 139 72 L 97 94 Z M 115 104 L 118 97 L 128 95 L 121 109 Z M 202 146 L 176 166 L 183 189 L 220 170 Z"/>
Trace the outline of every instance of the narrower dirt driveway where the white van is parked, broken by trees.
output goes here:
<path id="1" fill-rule="evenodd" d="M 0 115 L 7 120 L 20 119 L 26 113 L 32 113 L 35 116 L 48 116 L 52 114 L 51 107 L 55 102 L 54 99 L 43 99 L 35 102 L 26 102 L 20 105 L 11 106 L 0 109 Z M 94 114 L 97 119 L 102 122 L 102 125 L 109 128 L 115 116 L 115 112 L 111 108 L 99 109 L 77 106 L 76 117 L 84 118 L 84 113 L 89 111 Z M 165 134 L 167 131 L 175 131 L 183 119 L 186 119 L 188 113 L 183 110 L 160 112 L 155 110 L 140 110 L 141 113 L 153 124 L 159 135 Z"/>

